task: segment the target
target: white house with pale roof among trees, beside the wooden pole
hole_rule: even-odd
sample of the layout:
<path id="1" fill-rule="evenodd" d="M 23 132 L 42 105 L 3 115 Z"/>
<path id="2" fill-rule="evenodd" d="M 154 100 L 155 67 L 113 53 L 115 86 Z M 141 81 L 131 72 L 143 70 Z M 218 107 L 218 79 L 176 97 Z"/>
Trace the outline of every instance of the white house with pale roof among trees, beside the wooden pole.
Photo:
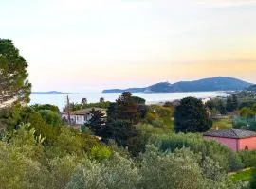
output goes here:
<path id="1" fill-rule="evenodd" d="M 88 121 L 91 119 L 91 111 L 94 109 L 95 111 L 101 111 L 103 114 L 106 115 L 106 110 L 101 108 L 88 108 L 88 109 L 82 109 L 79 111 L 70 112 L 70 121 L 71 124 L 74 125 L 83 125 L 88 123 Z M 67 112 L 62 113 L 62 119 L 64 121 L 68 121 L 68 114 Z"/>

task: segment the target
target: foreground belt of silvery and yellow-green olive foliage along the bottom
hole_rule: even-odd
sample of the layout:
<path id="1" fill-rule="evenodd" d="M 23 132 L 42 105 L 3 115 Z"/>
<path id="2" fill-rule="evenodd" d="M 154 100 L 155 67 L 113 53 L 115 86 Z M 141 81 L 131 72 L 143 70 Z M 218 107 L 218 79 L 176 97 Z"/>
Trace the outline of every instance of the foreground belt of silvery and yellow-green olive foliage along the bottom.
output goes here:
<path id="1" fill-rule="evenodd" d="M 239 188 L 220 163 L 189 148 L 163 152 L 148 146 L 133 160 L 117 146 L 68 128 L 44 146 L 29 128 L 23 125 L 9 142 L 0 142 L 2 188 Z"/>

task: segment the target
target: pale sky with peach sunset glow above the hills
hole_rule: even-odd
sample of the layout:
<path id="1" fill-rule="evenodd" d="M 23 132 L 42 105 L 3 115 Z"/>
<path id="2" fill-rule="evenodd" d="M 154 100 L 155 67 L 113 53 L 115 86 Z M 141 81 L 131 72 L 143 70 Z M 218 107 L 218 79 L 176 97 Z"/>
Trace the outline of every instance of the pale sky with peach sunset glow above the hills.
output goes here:
<path id="1" fill-rule="evenodd" d="M 237 77 L 256 83 L 256 0 L 0 0 L 33 91 Z"/>

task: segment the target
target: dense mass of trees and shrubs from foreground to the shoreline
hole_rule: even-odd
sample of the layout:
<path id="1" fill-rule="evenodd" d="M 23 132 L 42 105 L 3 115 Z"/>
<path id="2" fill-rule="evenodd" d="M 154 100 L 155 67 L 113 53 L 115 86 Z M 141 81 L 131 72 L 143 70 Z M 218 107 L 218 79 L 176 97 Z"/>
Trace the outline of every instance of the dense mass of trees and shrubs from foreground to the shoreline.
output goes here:
<path id="1" fill-rule="evenodd" d="M 228 172 L 254 165 L 255 152 L 203 139 L 211 122 L 198 99 L 147 106 L 123 93 L 113 103 L 84 98 L 72 110 L 93 107 L 107 108 L 107 117 L 92 109 L 82 131 L 66 125 L 56 106 L 0 109 L 0 188 L 240 189 Z"/>

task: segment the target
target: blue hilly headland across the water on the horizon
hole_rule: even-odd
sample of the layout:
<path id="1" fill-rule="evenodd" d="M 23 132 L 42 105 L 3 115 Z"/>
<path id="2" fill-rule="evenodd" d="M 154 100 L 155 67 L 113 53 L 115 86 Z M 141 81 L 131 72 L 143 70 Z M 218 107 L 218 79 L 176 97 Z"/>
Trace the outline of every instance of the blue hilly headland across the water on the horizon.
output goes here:
<path id="1" fill-rule="evenodd" d="M 251 83 L 232 77 L 210 77 L 194 81 L 180 81 L 174 84 L 160 82 L 145 88 L 109 89 L 102 93 L 172 93 L 172 92 L 208 92 L 240 91 L 247 89 Z"/>

